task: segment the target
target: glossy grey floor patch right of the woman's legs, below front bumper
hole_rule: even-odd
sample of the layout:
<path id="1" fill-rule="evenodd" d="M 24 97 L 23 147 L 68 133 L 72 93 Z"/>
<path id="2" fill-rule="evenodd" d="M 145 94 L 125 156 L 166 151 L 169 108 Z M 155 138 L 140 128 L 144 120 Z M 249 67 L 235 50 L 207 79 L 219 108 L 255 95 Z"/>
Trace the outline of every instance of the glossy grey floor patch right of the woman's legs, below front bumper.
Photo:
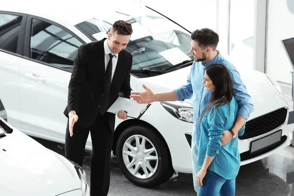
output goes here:
<path id="1" fill-rule="evenodd" d="M 294 147 L 242 166 L 236 183 L 237 196 L 294 196 Z"/>

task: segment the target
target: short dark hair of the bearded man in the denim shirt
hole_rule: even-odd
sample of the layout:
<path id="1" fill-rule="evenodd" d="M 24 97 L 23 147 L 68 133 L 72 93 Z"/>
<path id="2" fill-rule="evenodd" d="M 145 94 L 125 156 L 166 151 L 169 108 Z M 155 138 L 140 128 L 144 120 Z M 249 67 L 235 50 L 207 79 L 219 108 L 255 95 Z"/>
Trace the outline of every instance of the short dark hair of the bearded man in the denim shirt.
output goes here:
<path id="1" fill-rule="evenodd" d="M 216 49 L 219 44 L 219 35 L 210 28 L 200 28 L 192 32 L 191 39 L 198 42 L 199 47 Z"/>

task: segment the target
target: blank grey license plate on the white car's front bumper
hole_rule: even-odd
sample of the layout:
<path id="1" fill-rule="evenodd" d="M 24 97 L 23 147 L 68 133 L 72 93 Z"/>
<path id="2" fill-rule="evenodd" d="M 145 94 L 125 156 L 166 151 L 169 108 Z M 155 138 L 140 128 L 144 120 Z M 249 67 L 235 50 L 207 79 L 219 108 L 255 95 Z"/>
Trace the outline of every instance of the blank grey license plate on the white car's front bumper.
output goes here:
<path id="1" fill-rule="evenodd" d="M 264 150 L 281 141 L 282 129 L 271 133 L 265 137 L 254 140 L 250 143 L 250 153 L 256 153 Z"/>

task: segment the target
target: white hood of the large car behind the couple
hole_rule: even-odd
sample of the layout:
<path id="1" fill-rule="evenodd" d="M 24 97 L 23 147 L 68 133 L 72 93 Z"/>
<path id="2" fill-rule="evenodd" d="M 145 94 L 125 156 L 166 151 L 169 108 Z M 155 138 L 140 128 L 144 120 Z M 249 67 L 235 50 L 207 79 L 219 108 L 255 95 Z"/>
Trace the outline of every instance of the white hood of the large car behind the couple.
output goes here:
<path id="1" fill-rule="evenodd" d="M 142 84 L 145 84 L 154 93 L 171 91 L 184 85 L 190 72 L 191 66 L 154 77 L 140 78 L 137 80 L 137 90 L 139 92 L 145 91 L 142 87 Z M 253 104 L 278 95 L 278 92 L 264 73 L 245 69 L 238 69 L 238 72 L 246 85 Z M 185 101 L 191 103 L 191 99 Z"/>

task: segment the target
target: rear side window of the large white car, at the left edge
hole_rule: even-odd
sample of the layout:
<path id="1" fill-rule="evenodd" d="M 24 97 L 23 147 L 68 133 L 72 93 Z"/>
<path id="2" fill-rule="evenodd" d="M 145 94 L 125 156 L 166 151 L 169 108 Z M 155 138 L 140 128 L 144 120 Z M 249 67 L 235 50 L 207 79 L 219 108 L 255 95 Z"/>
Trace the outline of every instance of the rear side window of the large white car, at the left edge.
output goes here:
<path id="1" fill-rule="evenodd" d="M 0 14 L 0 49 L 16 53 L 22 16 Z"/>

